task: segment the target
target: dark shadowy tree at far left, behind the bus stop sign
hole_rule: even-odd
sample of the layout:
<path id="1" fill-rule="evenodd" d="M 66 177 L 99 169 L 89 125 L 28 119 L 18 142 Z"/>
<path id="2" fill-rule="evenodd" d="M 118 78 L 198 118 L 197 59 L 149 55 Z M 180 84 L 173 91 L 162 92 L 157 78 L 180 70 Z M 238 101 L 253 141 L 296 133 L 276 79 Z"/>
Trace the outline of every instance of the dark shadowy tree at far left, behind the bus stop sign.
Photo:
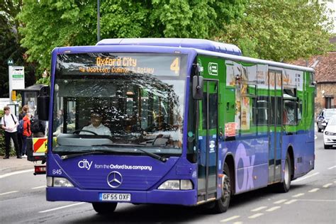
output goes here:
<path id="1" fill-rule="evenodd" d="M 21 1 L 0 2 L 0 97 L 9 97 L 9 67 L 7 60 L 13 59 L 14 65 L 25 67 L 25 83 L 29 86 L 35 82 L 35 67 L 24 60 L 26 49 L 20 46 L 21 35 L 18 34 L 20 23 L 16 15 L 21 10 Z"/>

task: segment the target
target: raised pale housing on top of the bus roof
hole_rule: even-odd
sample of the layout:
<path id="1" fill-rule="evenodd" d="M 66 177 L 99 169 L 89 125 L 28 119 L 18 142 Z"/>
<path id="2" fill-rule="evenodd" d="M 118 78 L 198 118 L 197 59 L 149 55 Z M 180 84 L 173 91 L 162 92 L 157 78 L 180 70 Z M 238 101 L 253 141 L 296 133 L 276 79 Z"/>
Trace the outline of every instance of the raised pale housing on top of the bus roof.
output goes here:
<path id="1" fill-rule="evenodd" d="M 96 45 L 147 45 L 162 47 L 189 47 L 212 52 L 221 52 L 229 55 L 242 55 L 236 45 L 219 43 L 212 40 L 193 38 L 114 38 L 104 39 Z"/>

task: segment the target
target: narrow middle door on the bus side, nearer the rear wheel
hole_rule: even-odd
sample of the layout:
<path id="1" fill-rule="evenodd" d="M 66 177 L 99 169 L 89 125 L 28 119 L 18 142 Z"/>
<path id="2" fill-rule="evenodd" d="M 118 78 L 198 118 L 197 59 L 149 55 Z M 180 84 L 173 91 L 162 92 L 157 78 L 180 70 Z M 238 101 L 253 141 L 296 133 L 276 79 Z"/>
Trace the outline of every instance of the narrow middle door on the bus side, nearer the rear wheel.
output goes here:
<path id="1" fill-rule="evenodd" d="M 281 181 L 282 72 L 269 71 L 269 183 Z"/>

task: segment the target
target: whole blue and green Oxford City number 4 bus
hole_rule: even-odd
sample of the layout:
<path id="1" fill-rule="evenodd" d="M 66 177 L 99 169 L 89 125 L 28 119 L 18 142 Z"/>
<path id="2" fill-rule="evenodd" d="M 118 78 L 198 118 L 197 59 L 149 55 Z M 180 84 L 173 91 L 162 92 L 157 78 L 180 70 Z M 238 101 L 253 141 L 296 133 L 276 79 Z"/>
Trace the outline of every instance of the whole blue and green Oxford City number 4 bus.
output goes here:
<path id="1" fill-rule="evenodd" d="M 47 201 L 206 206 L 314 169 L 314 70 L 235 45 L 106 39 L 52 52 Z M 49 103 L 49 107 L 45 106 Z M 91 114 L 107 133 L 83 131 Z M 91 124 L 92 125 L 92 124 Z"/>

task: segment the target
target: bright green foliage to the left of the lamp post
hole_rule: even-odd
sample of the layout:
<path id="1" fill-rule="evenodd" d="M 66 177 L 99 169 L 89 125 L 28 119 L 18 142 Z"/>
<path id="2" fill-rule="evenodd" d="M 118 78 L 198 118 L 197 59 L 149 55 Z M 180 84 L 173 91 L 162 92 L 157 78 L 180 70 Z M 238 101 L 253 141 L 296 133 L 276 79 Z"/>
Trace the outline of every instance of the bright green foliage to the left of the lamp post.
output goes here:
<path id="1" fill-rule="evenodd" d="M 50 67 L 50 52 L 54 47 L 94 43 L 91 30 L 95 27 L 91 19 L 94 8 L 88 2 L 23 1 L 18 14 L 18 20 L 23 23 L 19 28 L 23 35 L 21 44 L 28 49 L 28 62 L 38 63 L 38 74 Z"/>

